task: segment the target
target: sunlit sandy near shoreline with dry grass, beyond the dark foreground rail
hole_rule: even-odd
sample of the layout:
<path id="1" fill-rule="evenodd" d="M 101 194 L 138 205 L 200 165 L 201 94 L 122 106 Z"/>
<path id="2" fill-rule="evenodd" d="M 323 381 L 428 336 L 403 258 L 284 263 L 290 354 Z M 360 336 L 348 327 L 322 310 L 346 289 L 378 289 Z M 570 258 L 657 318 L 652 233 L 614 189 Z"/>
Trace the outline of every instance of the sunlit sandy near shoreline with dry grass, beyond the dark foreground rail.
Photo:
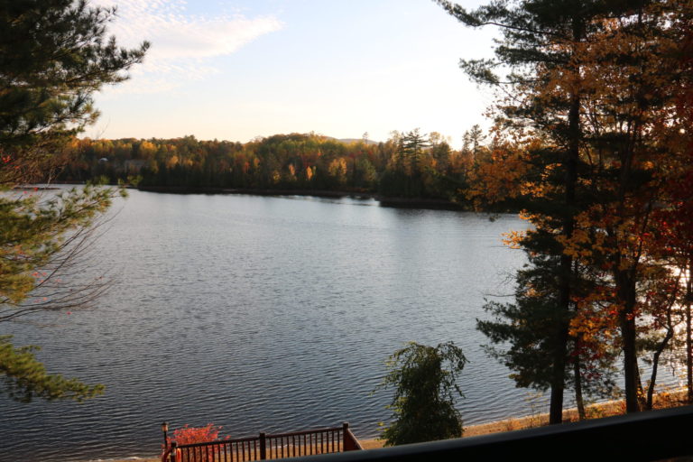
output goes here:
<path id="1" fill-rule="evenodd" d="M 652 407 L 654 409 L 666 409 L 677 406 L 683 406 L 686 404 L 688 404 L 688 402 L 686 402 L 685 390 L 678 390 L 674 392 L 658 393 L 654 397 Z M 599 402 L 596 404 L 589 405 L 587 406 L 586 413 L 587 419 L 599 419 L 602 417 L 621 415 L 624 413 L 624 410 L 625 404 L 624 401 L 621 400 L 611 402 Z M 566 411 L 563 411 L 563 420 L 566 422 L 579 420 L 577 416 L 577 409 L 568 409 Z M 518 418 L 497 420 L 493 422 L 480 423 L 477 425 L 469 425 L 465 427 L 462 438 L 478 437 L 481 435 L 500 433 L 503 431 L 531 429 L 533 427 L 541 427 L 548 424 L 549 414 L 536 414 Z M 356 437 L 358 437 L 358 435 L 356 435 Z M 383 448 L 382 439 L 359 439 L 358 441 L 359 443 L 361 443 L 361 446 L 364 449 Z M 104 462 L 161 462 L 161 457 L 129 457 L 124 459 L 96 460 L 104 460 Z"/>

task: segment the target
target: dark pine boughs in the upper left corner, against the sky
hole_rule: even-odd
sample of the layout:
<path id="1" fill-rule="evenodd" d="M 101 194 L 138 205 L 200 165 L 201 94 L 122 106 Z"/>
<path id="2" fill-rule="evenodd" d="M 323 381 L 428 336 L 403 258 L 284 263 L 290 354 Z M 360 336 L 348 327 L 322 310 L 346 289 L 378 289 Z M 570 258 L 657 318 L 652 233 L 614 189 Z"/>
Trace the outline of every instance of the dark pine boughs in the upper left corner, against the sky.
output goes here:
<path id="1" fill-rule="evenodd" d="M 57 148 L 96 119 L 92 93 L 143 59 L 148 43 L 125 50 L 106 39 L 114 16 L 85 0 L 0 2 L 0 150 L 13 161 L 0 183 L 42 178 Z"/>

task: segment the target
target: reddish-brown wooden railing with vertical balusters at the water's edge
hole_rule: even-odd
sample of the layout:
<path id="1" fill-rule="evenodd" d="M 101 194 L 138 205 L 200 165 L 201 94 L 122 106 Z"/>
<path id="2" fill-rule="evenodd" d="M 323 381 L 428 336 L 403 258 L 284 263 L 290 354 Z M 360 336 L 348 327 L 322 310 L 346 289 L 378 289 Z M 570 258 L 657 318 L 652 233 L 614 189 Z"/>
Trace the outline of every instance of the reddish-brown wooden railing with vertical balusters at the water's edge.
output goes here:
<path id="1" fill-rule="evenodd" d="M 245 462 L 284 457 L 302 457 L 360 450 L 349 424 L 328 429 L 265 434 L 177 446 L 162 455 L 162 462 Z"/>

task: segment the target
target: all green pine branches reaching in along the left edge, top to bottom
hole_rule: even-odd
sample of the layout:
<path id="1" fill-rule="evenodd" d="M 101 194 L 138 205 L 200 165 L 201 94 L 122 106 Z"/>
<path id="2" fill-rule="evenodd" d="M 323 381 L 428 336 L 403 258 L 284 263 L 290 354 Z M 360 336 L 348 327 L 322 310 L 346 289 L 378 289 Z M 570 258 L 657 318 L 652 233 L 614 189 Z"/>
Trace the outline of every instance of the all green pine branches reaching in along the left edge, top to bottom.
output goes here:
<path id="1" fill-rule="evenodd" d="M 148 43 L 126 50 L 106 37 L 114 17 L 115 9 L 86 1 L 0 3 L 0 321 L 80 307 L 104 288 L 98 281 L 68 287 L 57 276 L 79 259 L 113 191 L 88 186 L 40 199 L 10 189 L 50 180 L 65 162 L 61 149 L 98 115 L 91 95 L 125 80 L 143 60 Z M 47 374 L 34 348 L 0 337 L 0 376 L 10 397 L 82 400 L 103 391 Z"/>

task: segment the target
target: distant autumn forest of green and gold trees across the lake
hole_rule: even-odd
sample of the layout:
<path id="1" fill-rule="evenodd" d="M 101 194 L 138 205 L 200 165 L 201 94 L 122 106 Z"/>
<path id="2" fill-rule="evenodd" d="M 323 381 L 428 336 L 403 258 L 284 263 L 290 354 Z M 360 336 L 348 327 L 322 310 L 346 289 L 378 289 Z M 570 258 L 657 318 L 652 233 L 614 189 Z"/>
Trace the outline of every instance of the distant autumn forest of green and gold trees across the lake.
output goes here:
<path id="1" fill-rule="evenodd" d="M 462 201 L 460 191 L 490 162 L 475 125 L 462 149 L 437 133 L 393 132 L 382 143 L 341 142 L 319 134 L 275 134 L 249 143 L 176 139 L 74 138 L 59 180 L 140 177 L 145 187 L 354 191 L 388 197 Z"/>

